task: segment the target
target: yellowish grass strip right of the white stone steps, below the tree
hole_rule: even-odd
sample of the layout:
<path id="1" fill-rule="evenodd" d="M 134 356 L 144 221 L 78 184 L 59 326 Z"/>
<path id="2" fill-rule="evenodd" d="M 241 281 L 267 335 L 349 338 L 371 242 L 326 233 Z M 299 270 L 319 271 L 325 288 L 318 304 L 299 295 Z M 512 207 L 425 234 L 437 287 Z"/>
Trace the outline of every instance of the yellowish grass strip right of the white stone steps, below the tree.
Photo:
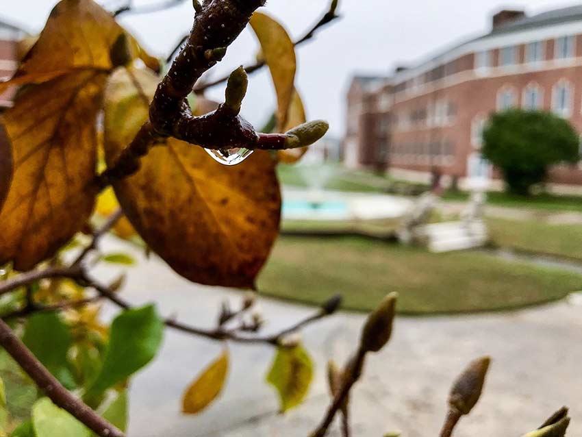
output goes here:
<path id="1" fill-rule="evenodd" d="M 582 225 L 488 218 L 492 242 L 500 247 L 582 260 Z"/>

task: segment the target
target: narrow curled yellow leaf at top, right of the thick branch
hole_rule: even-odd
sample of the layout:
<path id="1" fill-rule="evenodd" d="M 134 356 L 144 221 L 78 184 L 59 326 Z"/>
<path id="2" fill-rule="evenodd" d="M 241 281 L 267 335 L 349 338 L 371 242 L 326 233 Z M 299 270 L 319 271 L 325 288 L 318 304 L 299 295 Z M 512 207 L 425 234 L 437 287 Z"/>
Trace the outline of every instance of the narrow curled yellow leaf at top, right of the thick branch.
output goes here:
<path id="1" fill-rule="evenodd" d="M 251 27 L 261 44 L 264 58 L 277 92 L 277 125 L 279 131 L 287 125 L 289 105 L 292 100 L 296 59 L 295 46 L 287 31 L 266 14 L 255 12 Z"/>

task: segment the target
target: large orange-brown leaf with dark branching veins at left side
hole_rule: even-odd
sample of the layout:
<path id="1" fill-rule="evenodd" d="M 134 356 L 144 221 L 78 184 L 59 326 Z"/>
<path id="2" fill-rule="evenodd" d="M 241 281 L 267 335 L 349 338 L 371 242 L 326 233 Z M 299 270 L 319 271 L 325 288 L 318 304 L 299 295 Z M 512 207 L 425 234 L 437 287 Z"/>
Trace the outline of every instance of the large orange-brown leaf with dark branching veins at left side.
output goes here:
<path id="1" fill-rule="evenodd" d="M 81 71 L 28 86 L 5 112 L 14 176 L 0 210 L 0 264 L 31 269 L 90 216 L 105 77 Z"/>

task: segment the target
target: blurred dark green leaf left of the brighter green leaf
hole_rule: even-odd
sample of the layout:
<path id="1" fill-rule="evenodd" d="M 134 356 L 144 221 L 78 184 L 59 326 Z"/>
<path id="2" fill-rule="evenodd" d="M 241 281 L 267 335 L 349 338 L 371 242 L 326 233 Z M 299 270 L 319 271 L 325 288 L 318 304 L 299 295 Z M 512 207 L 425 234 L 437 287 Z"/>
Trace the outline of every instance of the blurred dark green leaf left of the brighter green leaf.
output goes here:
<path id="1" fill-rule="evenodd" d="M 71 329 L 57 312 L 39 312 L 30 316 L 23 342 L 66 388 L 75 388 L 73 375 L 67 367 L 67 353 L 73 337 Z"/>

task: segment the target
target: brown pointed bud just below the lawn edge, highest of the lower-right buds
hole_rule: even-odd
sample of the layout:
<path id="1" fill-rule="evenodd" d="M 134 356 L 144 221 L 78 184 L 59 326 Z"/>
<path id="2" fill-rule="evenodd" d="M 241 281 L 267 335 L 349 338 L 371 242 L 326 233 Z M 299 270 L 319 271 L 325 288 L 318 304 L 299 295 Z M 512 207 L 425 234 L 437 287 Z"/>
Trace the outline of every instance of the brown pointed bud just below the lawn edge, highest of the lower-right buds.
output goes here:
<path id="1" fill-rule="evenodd" d="M 368 316 L 360 339 L 360 347 L 364 351 L 377 352 L 390 340 L 397 298 L 398 293 L 390 293 Z"/>

